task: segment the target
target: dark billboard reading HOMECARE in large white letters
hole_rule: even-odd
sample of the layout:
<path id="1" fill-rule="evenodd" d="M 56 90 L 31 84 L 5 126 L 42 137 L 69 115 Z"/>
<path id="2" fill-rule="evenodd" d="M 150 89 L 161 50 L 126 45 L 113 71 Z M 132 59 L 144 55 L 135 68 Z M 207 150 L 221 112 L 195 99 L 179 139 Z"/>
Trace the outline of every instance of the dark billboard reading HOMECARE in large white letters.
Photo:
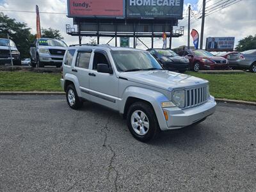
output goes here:
<path id="1" fill-rule="evenodd" d="M 127 18 L 182 19 L 184 0 L 126 0 Z"/>

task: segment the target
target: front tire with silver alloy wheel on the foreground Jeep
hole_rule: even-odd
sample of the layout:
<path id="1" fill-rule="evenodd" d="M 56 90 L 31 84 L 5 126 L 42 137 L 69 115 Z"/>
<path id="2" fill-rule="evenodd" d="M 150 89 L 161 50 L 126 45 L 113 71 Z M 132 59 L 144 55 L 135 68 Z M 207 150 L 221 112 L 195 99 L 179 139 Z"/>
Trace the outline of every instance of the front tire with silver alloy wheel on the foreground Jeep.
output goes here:
<path id="1" fill-rule="evenodd" d="M 145 102 L 135 102 L 130 106 L 127 113 L 127 126 L 132 136 L 142 142 L 156 138 L 160 132 L 155 111 Z"/>

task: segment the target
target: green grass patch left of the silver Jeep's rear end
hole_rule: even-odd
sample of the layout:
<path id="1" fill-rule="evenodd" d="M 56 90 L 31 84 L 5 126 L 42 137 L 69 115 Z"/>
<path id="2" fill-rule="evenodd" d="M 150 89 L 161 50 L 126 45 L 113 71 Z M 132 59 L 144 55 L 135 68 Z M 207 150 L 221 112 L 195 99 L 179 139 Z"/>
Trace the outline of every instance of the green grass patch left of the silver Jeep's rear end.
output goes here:
<path id="1" fill-rule="evenodd" d="M 0 72 L 0 92 L 60 92 L 61 74 L 36 72 Z"/>

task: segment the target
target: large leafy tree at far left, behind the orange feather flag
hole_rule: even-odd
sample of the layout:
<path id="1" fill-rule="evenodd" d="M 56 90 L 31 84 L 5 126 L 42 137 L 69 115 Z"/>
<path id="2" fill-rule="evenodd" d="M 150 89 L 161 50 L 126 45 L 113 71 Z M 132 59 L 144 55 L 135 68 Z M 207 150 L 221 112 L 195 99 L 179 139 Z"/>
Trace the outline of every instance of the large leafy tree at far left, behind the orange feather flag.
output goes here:
<path id="1" fill-rule="evenodd" d="M 30 28 L 26 23 L 17 22 L 0 12 L 0 38 L 7 38 L 8 33 L 20 51 L 20 56 L 22 58 L 29 57 L 29 45 L 34 39 L 30 33 Z"/>

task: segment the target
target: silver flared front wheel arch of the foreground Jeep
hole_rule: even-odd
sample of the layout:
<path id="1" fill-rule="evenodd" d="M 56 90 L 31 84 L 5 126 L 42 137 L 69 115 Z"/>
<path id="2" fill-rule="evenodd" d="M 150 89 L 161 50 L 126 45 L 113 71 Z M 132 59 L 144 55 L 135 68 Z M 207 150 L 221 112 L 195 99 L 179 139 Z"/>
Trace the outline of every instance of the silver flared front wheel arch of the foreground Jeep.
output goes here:
<path id="1" fill-rule="evenodd" d="M 125 103 L 129 97 L 134 97 L 150 102 L 156 113 L 160 129 L 166 129 L 167 124 L 164 118 L 163 109 L 161 108 L 161 102 L 168 101 L 169 99 L 165 95 L 163 95 L 163 93 L 136 86 L 128 87 L 125 90 L 122 97 L 122 102 L 120 102 L 119 105 L 120 113 L 122 114 L 124 113 Z"/>

